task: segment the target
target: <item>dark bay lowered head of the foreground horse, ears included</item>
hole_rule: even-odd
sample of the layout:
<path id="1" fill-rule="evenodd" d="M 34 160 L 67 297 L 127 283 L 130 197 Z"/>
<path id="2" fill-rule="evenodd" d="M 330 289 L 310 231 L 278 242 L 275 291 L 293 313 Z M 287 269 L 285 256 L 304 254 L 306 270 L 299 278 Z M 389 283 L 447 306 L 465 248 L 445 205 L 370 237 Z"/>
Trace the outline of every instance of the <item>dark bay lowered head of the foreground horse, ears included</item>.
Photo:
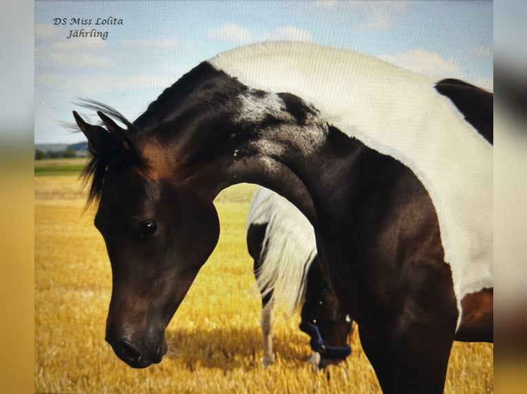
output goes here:
<path id="1" fill-rule="evenodd" d="M 85 174 L 111 262 L 106 340 L 131 367 L 147 367 L 166 353 L 164 329 L 215 248 L 219 223 L 210 199 L 152 176 L 151 146 L 136 126 L 98 114 L 105 127 L 74 116 L 93 154 Z"/>

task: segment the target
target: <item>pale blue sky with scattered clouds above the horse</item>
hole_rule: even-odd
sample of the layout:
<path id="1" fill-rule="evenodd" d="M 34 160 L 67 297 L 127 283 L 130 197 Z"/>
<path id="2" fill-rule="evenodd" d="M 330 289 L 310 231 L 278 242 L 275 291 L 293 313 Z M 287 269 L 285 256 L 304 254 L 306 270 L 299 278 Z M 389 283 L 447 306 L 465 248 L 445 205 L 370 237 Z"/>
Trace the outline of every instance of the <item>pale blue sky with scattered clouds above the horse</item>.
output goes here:
<path id="1" fill-rule="evenodd" d="M 67 127 L 72 111 L 89 115 L 80 99 L 136 119 L 200 62 L 265 40 L 351 49 L 493 91 L 491 1 L 37 0 L 34 12 L 35 143 L 85 141 Z"/>

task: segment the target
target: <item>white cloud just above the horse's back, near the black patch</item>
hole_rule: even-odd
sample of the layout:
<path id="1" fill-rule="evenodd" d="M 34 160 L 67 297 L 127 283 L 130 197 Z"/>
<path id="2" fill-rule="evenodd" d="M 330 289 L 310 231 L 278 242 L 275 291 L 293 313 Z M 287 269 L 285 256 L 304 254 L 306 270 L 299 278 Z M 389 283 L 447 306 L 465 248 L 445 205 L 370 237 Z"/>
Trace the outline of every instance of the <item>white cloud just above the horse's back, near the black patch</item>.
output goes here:
<path id="1" fill-rule="evenodd" d="M 454 59 L 445 59 L 426 49 L 412 49 L 404 54 L 383 56 L 387 62 L 427 76 L 461 78 L 462 69 Z"/>

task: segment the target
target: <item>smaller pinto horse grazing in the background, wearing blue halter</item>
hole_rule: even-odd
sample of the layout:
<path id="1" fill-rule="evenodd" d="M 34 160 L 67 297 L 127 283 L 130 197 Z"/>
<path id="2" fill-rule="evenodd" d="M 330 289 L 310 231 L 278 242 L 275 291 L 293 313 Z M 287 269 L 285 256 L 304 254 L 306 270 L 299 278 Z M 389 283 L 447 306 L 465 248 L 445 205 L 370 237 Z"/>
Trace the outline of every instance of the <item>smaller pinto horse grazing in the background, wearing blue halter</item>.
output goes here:
<path id="1" fill-rule="evenodd" d="M 261 293 L 264 368 L 272 364 L 273 308 L 281 302 L 288 314 L 300 307 L 300 329 L 310 336 L 314 369 L 344 361 L 352 321 L 324 279 L 313 227 L 288 200 L 257 187 L 247 215 L 247 246 Z"/>

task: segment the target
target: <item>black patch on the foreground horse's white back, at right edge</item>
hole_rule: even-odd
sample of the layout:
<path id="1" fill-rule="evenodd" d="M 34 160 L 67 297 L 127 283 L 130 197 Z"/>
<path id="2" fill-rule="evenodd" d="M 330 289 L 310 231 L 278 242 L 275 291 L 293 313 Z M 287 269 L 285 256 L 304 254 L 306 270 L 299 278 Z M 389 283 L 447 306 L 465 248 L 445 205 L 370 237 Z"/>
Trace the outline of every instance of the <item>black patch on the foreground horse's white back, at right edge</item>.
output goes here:
<path id="1" fill-rule="evenodd" d="M 440 80 L 435 90 L 449 97 L 458 110 L 491 145 L 493 139 L 493 94 L 464 81 Z"/>

